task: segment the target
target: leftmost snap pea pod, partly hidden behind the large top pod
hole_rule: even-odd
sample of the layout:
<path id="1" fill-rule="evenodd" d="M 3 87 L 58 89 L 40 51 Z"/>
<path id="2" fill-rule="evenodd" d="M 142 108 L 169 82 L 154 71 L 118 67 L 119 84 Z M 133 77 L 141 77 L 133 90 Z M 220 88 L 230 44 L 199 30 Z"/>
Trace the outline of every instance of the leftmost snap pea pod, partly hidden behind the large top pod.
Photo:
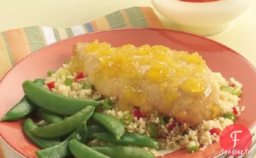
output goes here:
<path id="1" fill-rule="evenodd" d="M 38 86 L 42 86 L 44 84 L 44 79 L 37 78 L 33 81 Z M 10 109 L 4 117 L 2 117 L 1 121 L 15 121 L 19 120 L 27 115 L 29 115 L 32 111 L 35 110 L 35 104 L 27 99 L 26 96 L 23 96 L 21 101 L 14 105 L 12 109 Z"/>

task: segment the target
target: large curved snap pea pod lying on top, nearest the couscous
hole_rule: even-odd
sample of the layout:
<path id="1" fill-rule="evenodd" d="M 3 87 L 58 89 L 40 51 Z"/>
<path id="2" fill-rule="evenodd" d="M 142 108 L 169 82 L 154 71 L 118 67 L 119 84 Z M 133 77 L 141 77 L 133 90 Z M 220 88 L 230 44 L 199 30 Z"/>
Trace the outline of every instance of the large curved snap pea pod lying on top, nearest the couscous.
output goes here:
<path id="1" fill-rule="evenodd" d="M 22 84 L 27 98 L 38 107 L 59 115 L 73 115 L 86 106 L 98 107 L 101 102 L 62 96 L 26 80 Z"/>

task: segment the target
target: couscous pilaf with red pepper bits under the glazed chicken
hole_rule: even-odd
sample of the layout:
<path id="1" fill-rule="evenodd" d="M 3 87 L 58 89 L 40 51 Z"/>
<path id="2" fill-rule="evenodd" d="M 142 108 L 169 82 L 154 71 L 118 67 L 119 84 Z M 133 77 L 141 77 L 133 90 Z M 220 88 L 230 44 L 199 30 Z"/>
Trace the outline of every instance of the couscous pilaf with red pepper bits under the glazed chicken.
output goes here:
<path id="1" fill-rule="evenodd" d="M 73 75 L 69 76 L 62 76 L 59 78 L 59 72 L 63 69 L 69 69 L 69 64 L 63 64 L 63 67 L 57 70 L 54 74 L 50 77 L 45 78 L 45 83 L 55 82 L 54 88 L 52 88 L 52 92 L 70 96 L 74 98 L 91 98 L 97 99 L 101 98 L 101 93 L 97 92 L 94 88 L 89 89 L 82 89 L 83 82 L 87 81 L 87 78 L 78 79 L 77 82 L 72 82 L 70 86 L 66 86 L 64 81 L 66 78 L 74 79 L 77 75 L 74 73 Z M 221 73 L 213 73 L 213 76 L 218 81 L 219 86 L 237 86 L 242 89 L 242 84 L 235 81 L 234 78 L 230 78 L 229 81 L 225 80 Z M 47 85 L 43 85 L 43 88 L 50 90 Z M 115 104 L 117 98 L 115 96 L 110 97 L 110 99 Z M 103 100 L 101 100 L 103 101 Z M 221 113 L 231 113 L 233 112 L 234 108 L 237 111 L 236 116 L 238 117 L 242 111 L 244 111 L 245 107 L 242 106 L 240 109 L 237 105 L 240 101 L 239 96 L 232 95 L 230 92 L 226 90 L 221 90 L 219 105 L 221 107 Z M 184 127 L 178 122 L 175 123 L 174 127 L 170 130 L 168 127 L 169 125 L 173 124 L 174 119 L 171 117 L 169 122 L 166 125 L 161 124 L 159 117 L 161 115 L 159 112 L 155 111 L 155 113 L 151 114 L 149 117 L 142 117 L 137 118 L 134 117 L 133 111 L 119 111 L 115 106 L 111 110 L 103 109 L 103 113 L 107 115 L 114 116 L 118 119 L 121 119 L 124 114 L 130 113 L 132 115 L 132 121 L 125 123 L 126 132 L 129 133 L 139 133 L 139 134 L 146 134 L 150 136 L 150 131 L 148 128 L 149 124 L 154 124 L 157 128 L 157 140 L 159 141 L 159 146 L 162 149 L 180 149 L 184 147 L 199 146 L 199 150 L 204 150 L 207 146 L 211 145 L 213 142 L 219 142 L 219 133 L 211 133 L 212 129 L 220 129 L 221 131 L 227 127 L 228 125 L 233 124 L 228 118 L 224 117 L 217 117 L 213 120 L 203 121 L 199 123 L 194 128 L 186 128 L 184 131 Z M 88 143 L 89 146 L 105 146 L 105 145 L 113 145 L 112 143 L 101 142 L 97 139 L 91 140 Z M 155 156 L 163 156 L 156 149 L 147 148 L 144 149 L 149 150 Z M 194 151 L 193 151 L 194 152 Z"/>

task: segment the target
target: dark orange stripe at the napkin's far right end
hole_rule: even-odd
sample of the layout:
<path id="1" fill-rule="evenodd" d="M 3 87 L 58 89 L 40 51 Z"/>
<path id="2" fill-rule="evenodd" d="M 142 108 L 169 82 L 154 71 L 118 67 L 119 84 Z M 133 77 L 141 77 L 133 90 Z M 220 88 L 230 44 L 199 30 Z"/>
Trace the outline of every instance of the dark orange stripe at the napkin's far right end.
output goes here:
<path id="1" fill-rule="evenodd" d="M 151 28 L 163 28 L 163 24 L 150 7 L 140 7 L 142 14 L 144 15 L 147 24 Z"/>

